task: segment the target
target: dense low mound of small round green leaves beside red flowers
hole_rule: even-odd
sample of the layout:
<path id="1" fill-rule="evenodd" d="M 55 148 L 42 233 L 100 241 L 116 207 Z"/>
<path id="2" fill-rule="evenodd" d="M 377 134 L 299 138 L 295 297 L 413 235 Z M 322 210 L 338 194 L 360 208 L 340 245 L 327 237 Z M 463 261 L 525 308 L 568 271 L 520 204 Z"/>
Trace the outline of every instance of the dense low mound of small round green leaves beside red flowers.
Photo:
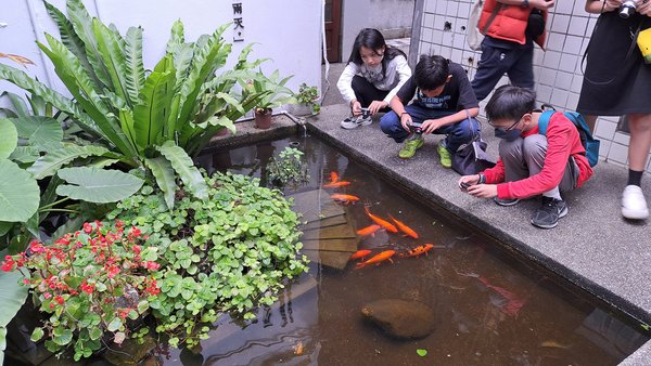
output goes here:
<path id="1" fill-rule="evenodd" d="M 230 173 L 215 173 L 206 184 L 206 201 L 179 191 L 168 211 L 163 196 L 144 186 L 108 214 L 140 227 L 161 253 L 161 293 L 150 306 L 156 331 L 173 347 L 206 338 L 220 313 L 253 317 L 286 278 L 307 271 L 298 217 L 279 191 Z"/>

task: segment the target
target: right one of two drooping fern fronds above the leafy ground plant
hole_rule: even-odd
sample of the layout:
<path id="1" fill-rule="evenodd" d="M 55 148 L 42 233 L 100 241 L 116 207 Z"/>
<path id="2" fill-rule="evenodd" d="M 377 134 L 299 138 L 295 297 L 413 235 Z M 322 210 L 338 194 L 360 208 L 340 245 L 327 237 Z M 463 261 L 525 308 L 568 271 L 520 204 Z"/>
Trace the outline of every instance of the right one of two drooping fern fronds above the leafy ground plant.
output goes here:
<path id="1" fill-rule="evenodd" d="M 192 159 L 188 156 L 184 149 L 174 144 L 174 141 L 166 141 L 162 146 L 157 146 L 158 151 L 177 172 L 181 181 L 199 199 L 208 199 L 208 186 L 206 181 L 201 175 L 201 172 L 194 167 Z"/>

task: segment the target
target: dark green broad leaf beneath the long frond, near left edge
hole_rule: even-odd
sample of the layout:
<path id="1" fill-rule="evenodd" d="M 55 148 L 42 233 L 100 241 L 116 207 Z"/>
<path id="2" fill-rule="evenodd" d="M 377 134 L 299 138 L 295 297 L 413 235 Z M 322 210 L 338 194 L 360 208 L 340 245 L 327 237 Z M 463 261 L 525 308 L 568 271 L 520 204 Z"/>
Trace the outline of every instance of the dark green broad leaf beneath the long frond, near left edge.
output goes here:
<path id="1" fill-rule="evenodd" d="M 61 147 L 63 129 L 61 123 L 51 117 L 28 116 L 12 118 L 18 136 L 29 141 L 29 145 L 41 152 Z"/>

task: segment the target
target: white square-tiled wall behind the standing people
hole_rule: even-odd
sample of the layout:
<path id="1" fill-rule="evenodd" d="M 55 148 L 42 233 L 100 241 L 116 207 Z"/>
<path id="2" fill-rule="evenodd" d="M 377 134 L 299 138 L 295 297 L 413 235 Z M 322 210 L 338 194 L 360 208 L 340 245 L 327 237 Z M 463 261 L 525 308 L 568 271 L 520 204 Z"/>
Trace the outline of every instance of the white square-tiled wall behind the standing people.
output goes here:
<path id="1" fill-rule="evenodd" d="M 468 48 L 465 30 L 461 27 L 468 23 L 472 3 L 472 0 L 422 0 L 422 21 L 418 25 L 420 39 L 411 39 L 411 50 L 441 54 L 463 65 L 471 80 L 481 52 Z M 536 45 L 534 52 L 539 103 L 549 103 L 559 109 L 576 109 L 583 83 L 582 58 L 597 22 L 597 16 L 586 13 L 584 6 L 585 0 L 561 0 L 550 13 L 547 51 Z M 444 30 L 446 22 L 451 23 L 450 30 Z M 499 84 L 507 82 L 508 78 L 503 77 Z M 480 103 L 482 112 L 488 99 Z M 617 117 L 599 118 L 595 134 L 601 140 L 601 157 L 624 165 L 629 138 L 627 133 L 616 131 L 617 122 Z M 651 172 L 651 161 L 648 164 L 647 171 Z"/>

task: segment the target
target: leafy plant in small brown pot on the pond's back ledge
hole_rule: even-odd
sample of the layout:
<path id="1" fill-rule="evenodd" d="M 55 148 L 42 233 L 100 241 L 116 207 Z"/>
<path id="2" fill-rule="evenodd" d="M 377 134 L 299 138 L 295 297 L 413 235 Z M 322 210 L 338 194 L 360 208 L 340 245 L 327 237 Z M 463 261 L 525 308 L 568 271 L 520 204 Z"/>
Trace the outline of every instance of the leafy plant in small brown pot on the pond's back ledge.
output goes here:
<path id="1" fill-rule="evenodd" d="M 283 104 L 296 103 L 294 93 L 285 87 L 285 83 L 291 78 L 292 76 L 288 76 L 280 79 L 278 70 L 267 77 L 259 70 L 253 80 L 242 86 L 244 89 L 243 94 L 255 93 L 264 95 L 254 108 L 256 129 L 268 129 L 271 127 L 271 113 L 273 108 Z"/>

